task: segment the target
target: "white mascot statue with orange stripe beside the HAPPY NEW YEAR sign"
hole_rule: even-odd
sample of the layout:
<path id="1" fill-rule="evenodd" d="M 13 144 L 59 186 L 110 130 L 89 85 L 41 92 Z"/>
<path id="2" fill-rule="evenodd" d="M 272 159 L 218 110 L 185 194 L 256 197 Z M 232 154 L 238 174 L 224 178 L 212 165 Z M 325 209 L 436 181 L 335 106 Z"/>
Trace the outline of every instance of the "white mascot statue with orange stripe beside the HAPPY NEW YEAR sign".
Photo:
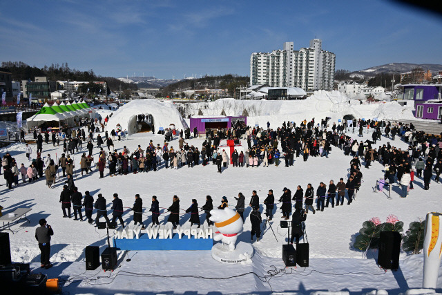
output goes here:
<path id="1" fill-rule="evenodd" d="M 229 245 L 229 249 L 233 251 L 238 234 L 242 232 L 242 226 L 244 225 L 240 214 L 228 207 L 221 210 L 213 209 L 210 213 L 211 217 L 209 219 L 215 222 L 216 227 L 213 240 L 220 240 Z"/>

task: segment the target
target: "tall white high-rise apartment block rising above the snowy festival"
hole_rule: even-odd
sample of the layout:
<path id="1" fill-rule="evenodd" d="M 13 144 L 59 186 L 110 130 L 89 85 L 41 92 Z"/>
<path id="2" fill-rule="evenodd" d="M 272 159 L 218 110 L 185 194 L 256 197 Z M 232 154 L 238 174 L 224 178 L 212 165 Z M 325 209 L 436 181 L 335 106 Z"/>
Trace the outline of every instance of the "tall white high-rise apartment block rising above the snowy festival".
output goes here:
<path id="1" fill-rule="evenodd" d="M 334 82 L 336 55 L 322 49 L 320 39 L 310 46 L 293 50 L 294 42 L 285 42 L 282 50 L 252 53 L 250 84 L 271 87 L 298 87 L 305 91 L 331 90 Z"/>

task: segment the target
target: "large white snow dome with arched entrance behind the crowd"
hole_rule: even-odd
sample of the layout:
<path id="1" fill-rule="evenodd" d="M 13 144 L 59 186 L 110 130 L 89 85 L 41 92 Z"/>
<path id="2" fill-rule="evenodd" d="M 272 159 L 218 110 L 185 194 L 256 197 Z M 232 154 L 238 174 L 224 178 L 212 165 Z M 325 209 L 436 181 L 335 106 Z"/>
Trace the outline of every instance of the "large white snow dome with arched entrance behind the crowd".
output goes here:
<path id="1" fill-rule="evenodd" d="M 112 117 L 109 118 L 106 130 L 109 132 L 112 129 L 116 130 L 117 124 L 119 124 L 122 131 L 128 131 L 129 135 L 136 133 L 137 115 L 143 114 L 152 115 L 155 133 L 160 131 L 160 127 L 163 129 L 169 128 L 170 124 L 175 124 L 177 130 L 187 128 L 186 122 L 183 120 L 180 112 L 177 111 L 173 102 L 160 102 L 156 99 L 137 99 L 118 108 Z"/>

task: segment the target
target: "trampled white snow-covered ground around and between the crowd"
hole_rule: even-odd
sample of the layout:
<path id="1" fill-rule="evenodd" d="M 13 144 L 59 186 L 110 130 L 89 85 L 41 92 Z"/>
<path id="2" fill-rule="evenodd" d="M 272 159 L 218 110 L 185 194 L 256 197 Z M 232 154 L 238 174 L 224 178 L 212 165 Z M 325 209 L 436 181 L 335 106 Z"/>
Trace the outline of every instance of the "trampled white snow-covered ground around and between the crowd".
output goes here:
<path id="1" fill-rule="evenodd" d="M 265 103 L 262 102 L 262 108 L 266 107 Z M 283 112 L 283 107 L 281 106 L 278 111 Z M 366 107 L 368 108 L 368 106 Z M 227 110 L 225 111 L 227 113 Z M 264 112 L 269 113 L 269 111 L 270 108 Z M 298 108 L 292 108 L 290 115 L 296 114 L 296 111 Z M 362 111 L 361 107 L 360 113 Z M 254 113 L 257 115 L 256 117 L 259 117 L 256 120 L 262 120 L 260 123 L 262 125 L 269 121 L 271 127 L 276 127 L 284 121 L 282 115 L 278 115 L 278 113 L 271 115 L 265 115 L 265 113 Z M 385 113 L 388 112 L 385 111 Z M 329 117 L 334 115 L 331 111 L 318 114 L 316 120 L 325 117 L 324 114 Z M 206 114 L 204 113 L 204 115 Z M 227 113 L 227 115 L 230 114 Z M 296 120 L 309 120 L 314 116 L 304 110 L 300 111 Z M 253 119 L 249 120 L 249 124 L 254 125 Z M 356 134 L 350 135 L 356 136 Z M 363 140 L 365 138 L 368 138 L 367 134 L 364 135 Z M 138 144 L 141 144 L 145 149 L 150 140 L 153 140 L 155 145 L 162 144 L 164 137 L 151 133 L 138 133 L 130 135 L 128 140 L 115 142 L 115 149 L 121 151 L 123 146 L 127 146 L 130 151 L 133 151 Z M 202 146 L 203 141 L 203 138 L 187 140 L 189 144 L 198 146 L 198 148 Z M 386 144 L 386 142 L 402 149 L 407 147 L 407 144 L 401 142 L 398 137 L 394 141 L 383 137 L 379 144 Z M 23 144 L 14 144 L 0 149 L 0 153 L 3 155 L 9 151 L 17 159 L 18 164 L 24 163 L 28 166 L 30 162 L 26 159 L 23 146 Z M 175 148 L 178 146 L 176 137 L 169 143 L 169 146 Z M 36 146 L 32 145 L 32 149 L 35 152 Z M 96 148 L 94 152 L 94 157 L 97 159 Z M 44 144 L 42 155 L 48 153 L 52 155 L 52 158 L 55 158 L 55 153 L 59 157 L 62 147 Z M 77 168 L 79 168 L 81 153 L 82 151 L 74 155 Z M 97 171 L 81 177 L 77 170 L 75 185 L 81 193 L 86 190 L 90 191 L 95 199 L 98 193 L 102 193 L 108 202 L 108 208 L 111 207 L 113 193 L 119 194 L 126 209 L 133 206 L 135 194 L 140 193 L 144 200 L 143 207 L 146 208 L 143 215 L 144 223 L 149 224 L 151 214 L 148 212 L 148 208 L 153 195 L 158 197 L 160 207 L 169 207 L 173 195 L 177 195 L 180 197 L 181 209 L 187 209 L 193 198 L 198 200 L 201 207 L 206 195 L 212 196 L 214 206 L 220 204 L 222 196 L 226 196 L 229 205 L 234 206 L 236 200 L 233 197 L 238 196 L 239 192 L 242 192 L 246 196 L 246 202 L 249 202 L 251 192 L 256 190 L 262 203 L 269 189 L 273 189 L 276 198 L 279 198 L 282 195 L 283 187 L 288 187 L 294 193 L 298 184 L 305 189 L 307 183 L 311 183 L 316 189 L 319 182 L 328 183 L 329 180 L 337 182 L 339 178 L 346 179 L 351 158 L 343 155 L 343 151 L 333 147 L 329 158 L 311 157 L 307 162 L 303 162 L 301 158 L 295 158 L 295 160 L 294 166 L 289 168 L 283 165 L 279 167 L 271 165 L 268 168 L 262 166 L 233 168 L 228 166 L 222 174 L 217 173 L 216 166 L 212 164 L 199 165 L 194 168 L 184 166 L 176 171 L 164 169 L 161 165 L 157 172 L 128 174 L 113 178 L 105 174 L 104 179 L 99 179 Z M 414 190 L 410 191 L 408 198 L 399 198 L 399 189 L 394 187 L 392 199 L 387 199 L 385 192 L 374 193 L 373 190 L 376 180 L 383 175 L 382 170 L 383 166 L 377 162 L 372 164 L 370 169 L 363 168 L 361 191 L 358 192 L 356 201 L 350 206 L 326 208 L 325 211 L 315 215 L 309 213 L 306 229 L 310 245 L 311 266 L 307 269 L 287 269 L 285 272 L 293 273 L 280 273 L 273 276 L 269 283 L 262 282 L 258 276 L 253 274 L 229 279 L 220 278 L 248 272 L 255 272 L 262 277 L 267 275 L 267 271 L 273 269 L 271 265 L 277 269 L 284 268 L 281 259 L 281 245 L 287 242 L 287 230 L 278 227 L 281 216 L 279 207 L 275 209 L 276 214 L 271 224 L 276 237 L 273 236 L 270 227 L 263 222 L 262 240 L 253 242 L 256 255 L 252 258 L 253 263 L 250 265 L 218 263 L 211 258 L 209 251 L 128 251 L 119 254 L 120 267 L 115 272 L 104 274 L 100 269 L 84 271 L 84 248 L 88 245 L 98 245 L 102 247 L 102 251 L 107 245 L 106 231 L 97 230 L 87 222 L 62 218 L 61 204 L 58 201 L 64 179 L 57 181 L 53 189 L 48 189 L 44 178 L 36 183 L 20 184 L 12 191 L 4 189 L 3 186 L 0 191 L 0 204 L 5 208 L 3 213 L 17 207 L 32 208 L 28 216 L 30 223 L 21 221 L 17 225 L 12 225 L 12 229 L 18 231 L 14 235 L 10 235 L 12 260 L 32 262 L 34 272 L 44 272 L 52 278 L 60 277 L 68 280 L 64 290 L 70 294 L 151 294 L 149 292 L 153 294 L 158 292 L 238 294 L 267 293 L 272 290 L 275 292 L 299 292 L 300 294 L 309 294 L 319 290 L 365 294 L 374 289 L 387 289 L 390 294 L 398 294 L 410 288 L 421 287 L 422 256 L 407 256 L 402 253 L 401 269 L 398 272 L 383 274 L 374 260 L 374 257 L 377 256 L 375 251 L 369 251 L 367 257 L 364 257 L 361 251 L 356 251 L 350 245 L 363 222 L 374 216 L 383 221 L 388 215 L 394 214 L 404 222 L 406 230 L 410 222 L 425 218 L 427 211 L 440 211 L 442 184 L 432 182 L 430 191 L 423 191 L 423 180 L 415 178 Z M 108 173 L 107 168 L 105 173 Z M 3 183 L 4 180 L 2 180 Z M 184 213 L 184 211 L 182 212 Z M 239 240 L 244 242 L 250 241 L 249 213 L 250 209 L 244 213 L 244 217 L 247 219 L 244 232 L 239 236 Z M 168 213 L 160 215 L 160 222 L 165 222 L 168 216 Z M 95 218 L 95 213 L 93 217 Z M 264 214 L 262 217 L 265 219 Z M 34 235 L 40 218 L 46 218 L 48 224 L 55 231 L 51 242 L 51 261 L 55 263 L 55 266 L 48 271 L 38 268 L 39 249 Z M 124 213 L 123 218 L 126 223 L 133 222 L 133 214 L 130 211 Z M 203 221 L 204 215 L 200 216 L 200 219 Z M 188 220 L 189 214 L 180 217 L 181 224 L 188 222 Z M 130 262 L 126 261 L 128 258 L 131 258 Z M 204 278 L 184 278 L 184 275 L 203 276 Z M 442 288 L 441 276 L 442 272 L 439 275 L 439 288 Z M 269 278 L 262 279 L 268 280 Z"/>

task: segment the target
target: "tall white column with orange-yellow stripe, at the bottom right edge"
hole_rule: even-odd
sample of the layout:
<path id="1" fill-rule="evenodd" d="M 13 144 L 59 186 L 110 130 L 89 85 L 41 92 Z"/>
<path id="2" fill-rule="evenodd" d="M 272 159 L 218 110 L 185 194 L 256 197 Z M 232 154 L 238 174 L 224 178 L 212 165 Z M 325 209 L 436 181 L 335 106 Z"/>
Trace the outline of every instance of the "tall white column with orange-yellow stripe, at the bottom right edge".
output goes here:
<path id="1" fill-rule="evenodd" d="M 442 214 L 428 212 L 423 238 L 423 284 L 424 288 L 436 289 L 442 255 Z"/>

